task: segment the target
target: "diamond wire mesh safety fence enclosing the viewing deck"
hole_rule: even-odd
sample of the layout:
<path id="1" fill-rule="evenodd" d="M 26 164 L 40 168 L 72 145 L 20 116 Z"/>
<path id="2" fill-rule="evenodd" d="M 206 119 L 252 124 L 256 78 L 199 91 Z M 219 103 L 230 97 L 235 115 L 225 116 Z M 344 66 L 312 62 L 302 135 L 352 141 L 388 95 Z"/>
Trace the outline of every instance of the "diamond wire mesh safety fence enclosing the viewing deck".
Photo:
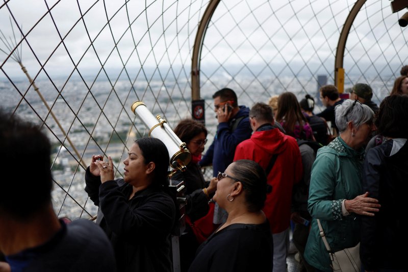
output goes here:
<path id="1" fill-rule="evenodd" d="M 53 143 L 53 200 L 59 216 L 90 217 L 84 191 L 93 154 L 122 175 L 127 147 L 148 130 L 131 105 L 143 101 L 174 127 L 191 116 L 191 58 L 208 1 L 44 1 L 0 4 L 2 108 L 39 123 Z M 318 77 L 334 81 L 336 47 L 354 1 L 221 1 L 203 40 L 200 94 L 209 142 L 212 94 L 230 87 L 250 107 L 292 91 L 318 102 Z M 345 87 L 373 88 L 379 102 L 407 62 L 404 11 L 369 1 L 344 55 Z M 22 69 L 24 67 L 24 69 Z M 31 80 L 30 80 L 30 79 Z M 41 98 L 42 97 L 42 98 Z M 321 108 L 315 111 L 319 112 Z M 211 169 L 206 170 L 211 177 Z M 207 177 L 207 176 L 206 176 Z"/>

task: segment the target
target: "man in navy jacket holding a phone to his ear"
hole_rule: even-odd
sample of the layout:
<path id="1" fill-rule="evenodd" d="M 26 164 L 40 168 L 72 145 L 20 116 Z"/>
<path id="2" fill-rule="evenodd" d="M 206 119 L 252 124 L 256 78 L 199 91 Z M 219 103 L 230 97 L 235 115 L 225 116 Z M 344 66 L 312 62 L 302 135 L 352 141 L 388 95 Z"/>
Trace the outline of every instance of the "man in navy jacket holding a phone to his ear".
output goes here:
<path id="1" fill-rule="evenodd" d="M 235 149 L 243 140 L 251 137 L 249 108 L 238 106 L 237 94 L 229 88 L 221 89 L 213 94 L 214 112 L 218 120 L 217 132 L 207 153 L 199 164 L 213 164 L 213 176 L 223 172 L 233 162 Z M 214 224 L 225 222 L 227 214 L 218 205 L 214 210 Z"/>

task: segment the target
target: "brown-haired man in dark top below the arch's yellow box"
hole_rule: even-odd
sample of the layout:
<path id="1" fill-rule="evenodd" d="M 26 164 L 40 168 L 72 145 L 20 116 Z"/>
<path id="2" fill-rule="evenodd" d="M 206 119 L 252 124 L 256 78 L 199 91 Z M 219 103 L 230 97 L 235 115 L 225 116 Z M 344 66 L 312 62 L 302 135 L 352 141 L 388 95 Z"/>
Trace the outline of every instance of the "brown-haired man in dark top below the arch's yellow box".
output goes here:
<path id="1" fill-rule="evenodd" d="M 344 99 L 340 98 L 339 90 L 335 85 L 322 86 L 319 92 L 320 100 L 326 109 L 316 115 L 329 121 L 331 123 L 331 128 L 333 128 L 338 135 L 339 130 L 337 129 L 335 122 L 335 108 L 337 105 L 341 105 L 344 102 Z"/>

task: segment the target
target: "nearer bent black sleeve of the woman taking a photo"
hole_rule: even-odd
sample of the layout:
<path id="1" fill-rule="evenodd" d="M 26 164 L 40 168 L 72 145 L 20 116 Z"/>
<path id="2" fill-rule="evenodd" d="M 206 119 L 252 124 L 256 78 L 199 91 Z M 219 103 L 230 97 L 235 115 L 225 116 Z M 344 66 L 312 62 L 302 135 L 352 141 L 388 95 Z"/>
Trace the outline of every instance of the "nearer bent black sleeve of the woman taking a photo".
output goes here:
<path id="1" fill-rule="evenodd" d="M 164 192 L 150 193 L 140 206 L 132 208 L 115 181 L 99 187 L 99 205 L 109 228 L 118 236 L 129 239 L 157 239 L 170 233 L 175 205 Z"/>

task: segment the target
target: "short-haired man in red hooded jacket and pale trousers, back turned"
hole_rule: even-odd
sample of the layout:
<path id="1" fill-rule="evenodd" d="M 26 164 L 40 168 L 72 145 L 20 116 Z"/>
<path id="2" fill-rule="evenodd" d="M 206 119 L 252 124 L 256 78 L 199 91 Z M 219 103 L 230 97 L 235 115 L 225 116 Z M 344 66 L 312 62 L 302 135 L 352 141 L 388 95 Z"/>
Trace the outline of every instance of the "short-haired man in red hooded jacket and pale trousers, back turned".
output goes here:
<path id="1" fill-rule="evenodd" d="M 272 192 L 266 197 L 263 211 L 273 234 L 273 272 L 285 272 L 292 188 L 303 175 L 299 146 L 295 138 L 273 127 L 270 106 L 253 105 L 249 121 L 253 134 L 237 146 L 234 161 L 253 160 L 266 169 Z"/>

